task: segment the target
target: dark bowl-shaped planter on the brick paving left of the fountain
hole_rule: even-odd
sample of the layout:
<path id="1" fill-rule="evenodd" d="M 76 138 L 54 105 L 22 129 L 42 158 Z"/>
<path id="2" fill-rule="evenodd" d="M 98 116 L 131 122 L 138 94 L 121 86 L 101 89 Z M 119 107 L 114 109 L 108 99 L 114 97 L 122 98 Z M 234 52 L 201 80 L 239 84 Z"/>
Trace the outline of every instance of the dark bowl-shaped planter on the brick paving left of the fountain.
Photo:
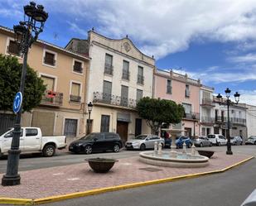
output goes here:
<path id="1" fill-rule="evenodd" d="M 85 159 L 85 160 L 89 162 L 89 166 L 91 167 L 91 169 L 93 169 L 94 172 L 97 172 L 97 173 L 108 172 L 114 166 L 114 163 L 118 161 L 114 159 L 106 159 L 106 158 L 99 158 L 99 157 Z"/>

